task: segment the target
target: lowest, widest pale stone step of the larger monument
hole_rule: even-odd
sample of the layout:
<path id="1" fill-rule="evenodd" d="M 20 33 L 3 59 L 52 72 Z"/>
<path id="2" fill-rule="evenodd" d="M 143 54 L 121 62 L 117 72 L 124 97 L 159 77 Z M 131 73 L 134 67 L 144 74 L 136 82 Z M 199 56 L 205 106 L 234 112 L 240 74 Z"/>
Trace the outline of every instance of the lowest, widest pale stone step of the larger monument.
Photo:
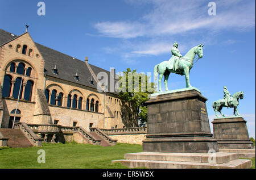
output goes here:
<path id="1" fill-rule="evenodd" d="M 224 164 L 209 164 L 200 162 L 179 161 L 153 161 L 153 160 L 115 160 L 129 168 L 151 168 L 151 169 L 249 169 L 251 160 L 233 160 Z"/>

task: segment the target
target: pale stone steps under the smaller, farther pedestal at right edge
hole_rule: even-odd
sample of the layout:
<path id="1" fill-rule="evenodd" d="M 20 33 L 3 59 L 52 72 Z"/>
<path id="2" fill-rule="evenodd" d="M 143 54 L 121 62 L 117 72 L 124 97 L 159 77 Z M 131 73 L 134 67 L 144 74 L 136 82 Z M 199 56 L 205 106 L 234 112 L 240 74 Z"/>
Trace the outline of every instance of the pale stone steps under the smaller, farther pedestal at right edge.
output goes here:
<path id="1" fill-rule="evenodd" d="M 219 152 L 237 153 L 239 158 L 254 158 L 255 149 L 218 149 Z"/>

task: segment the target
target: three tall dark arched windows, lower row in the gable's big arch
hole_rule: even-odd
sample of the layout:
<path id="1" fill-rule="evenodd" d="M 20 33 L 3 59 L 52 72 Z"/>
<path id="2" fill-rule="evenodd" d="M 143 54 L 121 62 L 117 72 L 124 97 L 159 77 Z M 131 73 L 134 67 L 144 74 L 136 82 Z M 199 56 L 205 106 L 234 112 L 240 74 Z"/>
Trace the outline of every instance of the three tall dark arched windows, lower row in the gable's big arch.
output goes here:
<path id="1" fill-rule="evenodd" d="M 13 81 L 13 77 L 6 74 L 3 79 L 2 97 L 18 99 L 19 96 L 19 99 L 31 101 L 33 86 L 34 82 L 31 80 L 24 83 L 21 77 L 17 77 Z"/>

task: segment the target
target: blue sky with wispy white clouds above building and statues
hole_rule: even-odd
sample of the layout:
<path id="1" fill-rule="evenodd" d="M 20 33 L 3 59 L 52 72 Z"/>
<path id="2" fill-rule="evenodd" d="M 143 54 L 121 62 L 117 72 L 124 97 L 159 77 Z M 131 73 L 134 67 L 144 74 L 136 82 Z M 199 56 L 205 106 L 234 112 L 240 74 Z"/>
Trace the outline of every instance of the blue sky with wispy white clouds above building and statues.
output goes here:
<path id="1" fill-rule="evenodd" d="M 0 28 L 20 35 L 28 24 L 36 43 L 80 60 L 88 56 L 90 64 L 106 70 L 153 72 L 156 64 L 169 60 L 174 41 L 182 55 L 204 44 L 204 57 L 190 79 L 208 98 L 209 121 L 224 85 L 230 94 L 244 91 L 238 111 L 255 138 L 255 1 L 213 1 L 212 16 L 210 1 L 203 0 L 47 0 L 42 1 L 45 16 L 37 14 L 38 2 L 0 0 Z M 184 88 L 184 76 L 170 74 L 168 87 Z M 222 112 L 232 115 L 233 110 Z"/>

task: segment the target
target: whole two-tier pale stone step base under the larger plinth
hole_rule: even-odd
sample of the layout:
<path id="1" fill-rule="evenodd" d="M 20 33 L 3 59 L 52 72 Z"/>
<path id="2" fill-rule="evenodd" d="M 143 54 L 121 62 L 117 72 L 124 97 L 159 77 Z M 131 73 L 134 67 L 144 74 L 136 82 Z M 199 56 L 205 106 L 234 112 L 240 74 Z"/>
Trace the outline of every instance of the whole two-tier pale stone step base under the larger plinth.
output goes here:
<path id="1" fill-rule="evenodd" d="M 140 152 L 125 154 L 125 160 L 114 160 L 129 168 L 154 169 L 222 169 L 251 168 L 251 160 L 238 159 L 237 153 L 158 153 Z"/>

